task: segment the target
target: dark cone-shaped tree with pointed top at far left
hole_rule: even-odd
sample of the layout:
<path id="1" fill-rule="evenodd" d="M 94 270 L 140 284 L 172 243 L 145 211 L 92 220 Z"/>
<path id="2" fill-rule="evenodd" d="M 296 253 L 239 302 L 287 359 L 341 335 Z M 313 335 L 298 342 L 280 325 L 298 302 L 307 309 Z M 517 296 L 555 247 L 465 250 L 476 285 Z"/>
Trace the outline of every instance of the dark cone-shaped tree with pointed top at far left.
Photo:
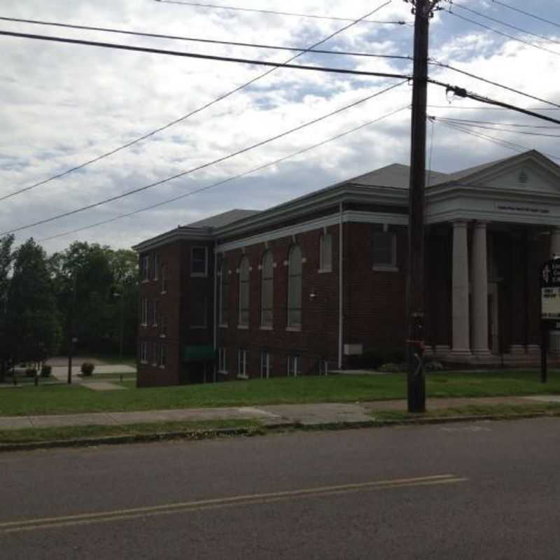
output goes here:
<path id="1" fill-rule="evenodd" d="M 60 325 L 55 293 L 45 251 L 32 238 L 15 251 L 6 325 L 13 363 L 40 362 L 57 351 Z"/>

